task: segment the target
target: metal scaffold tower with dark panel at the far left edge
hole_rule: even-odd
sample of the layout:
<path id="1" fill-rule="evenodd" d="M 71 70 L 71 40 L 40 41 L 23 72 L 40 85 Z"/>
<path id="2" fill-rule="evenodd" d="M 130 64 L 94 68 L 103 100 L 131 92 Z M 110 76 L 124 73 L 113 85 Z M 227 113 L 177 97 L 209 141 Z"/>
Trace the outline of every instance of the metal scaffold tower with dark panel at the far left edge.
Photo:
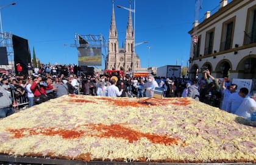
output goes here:
<path id="1" fill-rule="evenodd" d="M 12 44 L 12 34 L 9 32 L 1 33 L 0 41 L 0 68 L 15 71 L 14 54 Z"/>

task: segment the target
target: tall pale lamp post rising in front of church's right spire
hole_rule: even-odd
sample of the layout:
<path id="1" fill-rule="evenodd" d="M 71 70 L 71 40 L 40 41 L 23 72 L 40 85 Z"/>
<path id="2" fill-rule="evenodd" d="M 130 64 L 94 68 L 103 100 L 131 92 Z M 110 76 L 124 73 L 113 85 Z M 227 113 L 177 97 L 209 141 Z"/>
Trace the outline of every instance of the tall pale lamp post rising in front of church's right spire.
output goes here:
<path id="1" fill-rule="evenodd" d="M 135 72 L 135 58 L 136 58 L 136 54 L 135 54 L 135 0 L 133 0 L 133 7 L 134 9 L 131 9 L 131 1 L 130 0 L 130 8 L 127 8 L 127 7 L 123 7 L 121 5 L 117 5 L 118 8 L 122 8 L 122 9 L 126 9 L 128 10 L 129 12 L 132 12 L 133 15 L 134 15 L 134 18 L 133 18 L 133 26 L 134 26 L 134 30 L 133 30 L 133 52 L 132 52 L 132 72 L 133 72 L 133 76 L 134 76 L 134 72 Z"/>

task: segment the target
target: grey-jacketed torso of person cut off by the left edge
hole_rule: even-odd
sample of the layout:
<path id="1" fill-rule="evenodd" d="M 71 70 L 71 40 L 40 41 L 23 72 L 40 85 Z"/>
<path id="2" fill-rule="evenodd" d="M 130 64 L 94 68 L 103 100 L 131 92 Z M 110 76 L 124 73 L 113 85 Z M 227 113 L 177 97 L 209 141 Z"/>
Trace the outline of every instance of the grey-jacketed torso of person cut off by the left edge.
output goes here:
<path id="1" fill-rule="evenodd" d="M 0 118 L 5 118 L 13 113 L 14 110 L 12 108 L 12 100 L 4 88 L 0 86 Z"/>

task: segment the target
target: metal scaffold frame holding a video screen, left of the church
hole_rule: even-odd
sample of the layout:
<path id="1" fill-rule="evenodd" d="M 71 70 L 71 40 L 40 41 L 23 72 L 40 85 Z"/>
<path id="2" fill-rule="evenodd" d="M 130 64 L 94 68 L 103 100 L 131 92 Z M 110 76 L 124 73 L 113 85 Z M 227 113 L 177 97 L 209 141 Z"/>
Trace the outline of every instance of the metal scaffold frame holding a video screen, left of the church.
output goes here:
<path id="1" fill-rule="evenodd" d="M 102 66 L 107 54 L 106 40 L 102 35 L 75 35 L 79 66 Z"/>

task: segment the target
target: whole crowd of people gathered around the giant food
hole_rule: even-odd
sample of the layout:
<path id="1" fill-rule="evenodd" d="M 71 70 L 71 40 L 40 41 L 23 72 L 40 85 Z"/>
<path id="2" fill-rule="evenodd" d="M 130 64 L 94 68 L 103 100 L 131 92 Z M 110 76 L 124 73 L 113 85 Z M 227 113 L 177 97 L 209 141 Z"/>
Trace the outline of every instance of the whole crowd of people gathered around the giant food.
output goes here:
<path id="1" fill-rule="evenodd" d="M 153 97 L 156 87 L 163 88 L 163 97 L 192 97 L 229 113 L 251 119 L 256 111 L 256 94 L 249 97 L 247 88 L 230 83 L 229 79 L 215 79 L 210 71 L 204 78 L 131 77 L 127 75 L 81 76 L 73 66 L 58 69 L 56 65 L 41 65 L 27 74 L 4 74 L 0 81 L 0 118 L 14 113 L 14 108 L 26 108 L 65 94 L 84 94 L 105 97 Z"/>

